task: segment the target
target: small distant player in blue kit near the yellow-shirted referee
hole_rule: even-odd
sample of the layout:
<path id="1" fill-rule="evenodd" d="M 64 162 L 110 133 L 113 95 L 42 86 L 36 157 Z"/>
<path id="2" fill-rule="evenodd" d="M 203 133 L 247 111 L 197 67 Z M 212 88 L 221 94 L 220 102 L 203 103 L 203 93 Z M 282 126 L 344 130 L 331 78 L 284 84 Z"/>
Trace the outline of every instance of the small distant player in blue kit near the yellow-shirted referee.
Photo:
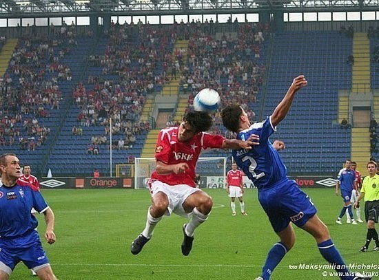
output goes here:
<path id="1" fill-rule="evenodd" d="M 338 187 L 341 189 L 343 207 L 340 215 L 336 220 L 336 223 L 342 224 L 341 218 L 345 215 L 346 211 L 348 211 L 351 218 L 351 224 L 358 224 L 354 219 L 353 211 L 351 211 L 351 194 L 353 193 L 353 189 L 357 189 L 356 171 L 351 169 L 351 160 L 345 160 L 345 168 L 341 169 L 340 172 L 338 172 L 336 182 L 336 195 L 339 195 Z"/>

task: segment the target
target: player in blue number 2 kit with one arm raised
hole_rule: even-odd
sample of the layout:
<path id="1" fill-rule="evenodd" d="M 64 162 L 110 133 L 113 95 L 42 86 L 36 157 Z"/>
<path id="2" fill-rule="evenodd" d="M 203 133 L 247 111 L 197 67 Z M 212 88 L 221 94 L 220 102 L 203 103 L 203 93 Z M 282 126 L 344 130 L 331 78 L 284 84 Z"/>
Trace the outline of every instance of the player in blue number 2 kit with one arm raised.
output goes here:
<path id="1" fill-rule="evenodd" d="M 259 145 L 250 150 L 233 152 L 237 165 L 258 188 L 259 202 L 269 217 L 272 228 L 280 237 L 280 241 L 269 250 L 263 272 L 256 280 L 269 279 L 274 268 L 294 246 L 295 233 L 291 222 L 316 239 L 322 257 L 334 264 L 341 279 L 371 279 L 349 272 L 331 241 L 327 226 L 318 218 L 314 204 L 294 180 L 287 178 L 287 168 L 276 151 L 285 148 L 283 142 L 274 142 L 273 146 L 269 141 L 269 136 L 276 131 L 276 125 L 287 115 L 296 91 L 306 85 L 305 76 L 296 77 L 272 115 L 254 125 L 250 124 L 246 112 L 238 105 L 225 107 L 221 112 L 223 125 L 236 132 L 237 139 L 246 140 L 251 134 L 259 136 Z"/>

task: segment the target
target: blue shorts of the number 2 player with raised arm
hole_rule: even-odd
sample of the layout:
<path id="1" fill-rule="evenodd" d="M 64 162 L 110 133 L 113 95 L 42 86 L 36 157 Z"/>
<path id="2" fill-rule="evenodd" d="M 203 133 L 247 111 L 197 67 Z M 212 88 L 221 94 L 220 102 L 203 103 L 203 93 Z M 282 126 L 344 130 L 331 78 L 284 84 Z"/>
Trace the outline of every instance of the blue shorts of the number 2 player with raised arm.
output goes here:
<path id="1" fill-rule="evenodd" d="M 317 213 L 313 202 L 294 180 L 282 180 L 272 188 L 259 189 L 258 200 L 276 233 L 287 228 L 289 222 L 302 227 Z"/>

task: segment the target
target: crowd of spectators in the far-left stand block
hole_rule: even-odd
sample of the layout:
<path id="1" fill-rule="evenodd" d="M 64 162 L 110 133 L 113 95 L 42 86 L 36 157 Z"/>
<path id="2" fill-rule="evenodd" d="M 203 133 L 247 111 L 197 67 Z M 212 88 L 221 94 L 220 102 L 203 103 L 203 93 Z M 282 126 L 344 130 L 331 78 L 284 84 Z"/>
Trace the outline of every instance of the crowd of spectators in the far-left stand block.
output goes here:
<path id="1" fill-rule="evenodd" d="M 0 79 L 0 143 L 34 150 L 45 143 L 50 128 L 39 118 L 59 109 L 62 96 L 58 80 L 68 79 L 70 69 L 60 63 L 70 52 L 74 34 L 59 37 L 25 34 L 19 39 L 6 74 Z M 47 75 L 46 73 L 52 73 Z"/>

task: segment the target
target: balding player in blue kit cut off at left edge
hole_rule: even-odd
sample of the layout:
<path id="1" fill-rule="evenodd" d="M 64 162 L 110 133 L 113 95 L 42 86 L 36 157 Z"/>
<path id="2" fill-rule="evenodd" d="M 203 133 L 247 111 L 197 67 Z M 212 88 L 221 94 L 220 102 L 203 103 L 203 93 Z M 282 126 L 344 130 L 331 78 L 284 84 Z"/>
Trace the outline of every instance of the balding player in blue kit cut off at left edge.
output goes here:
<path id="1" fill-rule="evenodd" d="M 20 261 L 33 269 L 39 279 L 57 279 L 35 230 L 37 219 L 30 211 L 34 208 L 45 215 L 45 239 L 49 244 L 56 239 L 54 213 L 39 190 L 19 180 L 21 171 L 16 155 L 0 155 L 0 173 L 0 280 L 8 280 Z"/>

